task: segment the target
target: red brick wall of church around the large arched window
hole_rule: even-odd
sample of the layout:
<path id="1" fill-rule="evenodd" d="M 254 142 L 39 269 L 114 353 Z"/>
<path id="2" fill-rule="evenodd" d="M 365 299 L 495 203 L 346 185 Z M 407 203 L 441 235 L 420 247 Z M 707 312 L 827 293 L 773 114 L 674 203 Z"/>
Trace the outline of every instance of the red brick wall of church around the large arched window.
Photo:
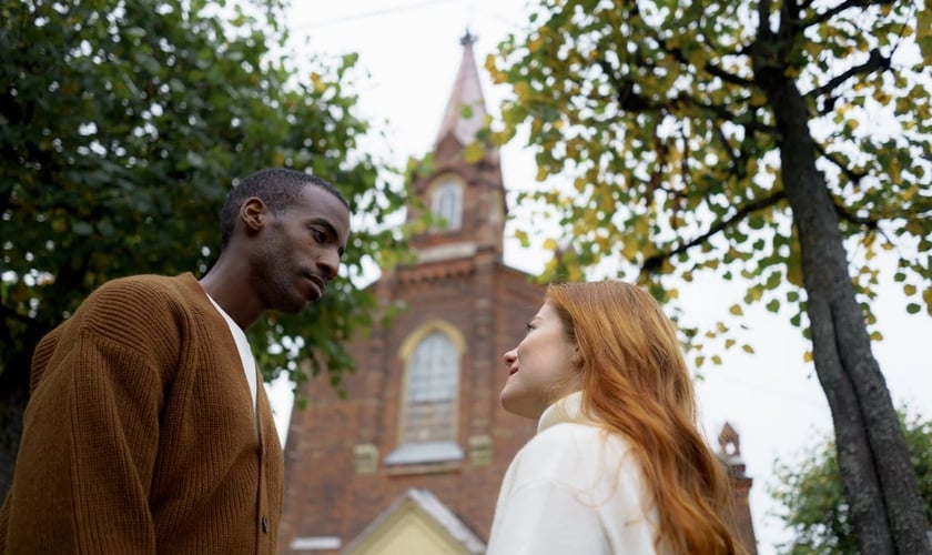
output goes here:
<path id="1" fill-rule="evenodd" d="M 358 370 L 345 380 L 346 398 L 324 376 L 307 383 L 307 408 L 293 412 L 285 448 L 281 553 L 291 553 L 295 537 L 338 536 L 346 545 L 411 487 L 429 490 L 488 537 L 505 470 L 536 427 L 500 407 L 498 392 L 507 379 L 502 356 L 520 341 L 543 290 L 494 259 L 477 258 L 465 269 L 447 264 L 446 270 L 455 269 L 452 274 L 437 266 L 444 264 L 401 270 L 376 285 L 384 299 L 406 299 L 411 307 L 388 329 L 352 344 Z M 412 331 L 437 319 L 466 340 L 457 437 L 465 457 L 458 464 L 386 467 L 384 457 L 397 446 L 405 370 L 398 347 Z M 489 461 L 470 458 L 470 438 L 479 445 L 490 441 Z M 357 473 L 359 445 L 377 448 L 372 474 Z"/>

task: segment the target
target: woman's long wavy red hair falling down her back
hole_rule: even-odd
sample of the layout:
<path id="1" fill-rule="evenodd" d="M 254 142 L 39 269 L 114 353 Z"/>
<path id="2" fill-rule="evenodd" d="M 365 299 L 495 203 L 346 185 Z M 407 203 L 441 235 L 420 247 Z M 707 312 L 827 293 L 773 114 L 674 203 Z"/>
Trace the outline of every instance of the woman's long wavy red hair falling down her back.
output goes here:
<path id="1" fill-rule="evenodd" d="M 546 301 L 578 346 L 582 408 L 625 436 L 641 463 L 660 517 L 657 546 L 741 552 L 723 521 L 728 477 L 697 428 L 692 380 L 659 304 L 617 281 L 550 285 Z"/>

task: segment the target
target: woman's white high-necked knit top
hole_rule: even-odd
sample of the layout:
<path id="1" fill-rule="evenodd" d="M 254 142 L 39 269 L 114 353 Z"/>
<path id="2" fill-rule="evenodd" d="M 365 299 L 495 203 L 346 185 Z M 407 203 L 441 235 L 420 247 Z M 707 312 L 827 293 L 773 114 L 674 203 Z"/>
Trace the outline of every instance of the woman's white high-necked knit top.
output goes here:
<path id="1" fill-rule="evenodd" d="M 657 509 L 640 463 L 580 403 L 577 392 L 547 407 L 511 461 L 487 555 L 656 553 Z"/>

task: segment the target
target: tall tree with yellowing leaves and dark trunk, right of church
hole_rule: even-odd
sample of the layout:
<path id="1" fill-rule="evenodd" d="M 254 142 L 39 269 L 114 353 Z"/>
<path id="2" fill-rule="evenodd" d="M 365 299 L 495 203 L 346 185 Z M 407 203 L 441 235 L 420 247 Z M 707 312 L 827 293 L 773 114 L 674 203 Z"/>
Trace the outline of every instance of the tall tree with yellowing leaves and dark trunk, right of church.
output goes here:
<path id="1" fill-rule="evenodd" d="M 490 137 L 526 131 L 538 180 L 573 180 L 524 195 L 555 206 L 559 221 L 561 236 L 545 242 L 557 254 L 548 276 L 581 279 L 622 261 L 620 275 L 637 272 L 667 302 L 678 283 L 718 272 L 747 281 L 744 303 L 791 312 L 812 342 L 807 357 L 831 407 L 859 545 L 871 554 L 930 551 L 871 352 L 880 335 L 870 311 L 875 254 L 890 251 L 906 311 L 924 303 L 932 313 L 932 111 L 919 8 L 541 0 L 528 32 L 487 62 L 513 91 Z M 736 342 L 721 322 L 705 336 Z"/>

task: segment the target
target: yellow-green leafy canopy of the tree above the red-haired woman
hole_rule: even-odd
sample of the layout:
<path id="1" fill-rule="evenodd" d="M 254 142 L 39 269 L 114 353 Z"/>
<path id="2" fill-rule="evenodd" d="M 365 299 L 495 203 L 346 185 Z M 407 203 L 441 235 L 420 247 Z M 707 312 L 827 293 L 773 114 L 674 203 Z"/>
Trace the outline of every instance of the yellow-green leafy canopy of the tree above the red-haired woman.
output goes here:
<path id="1" fill-rule="evenodd" d="M 880 251 L 898 260 L 906 310 L 932 314 L 930 70 L 916 48 L 929 27 L 916 33 L 919 4 L 793 3 L 804 31 L 780 38 L 784 44 L 756 43 L 760 21 L 786 6 L 543 0 L 530 29 L 489 57 L 494 80 L 513 91 L 492 137 L 527 132 L 540 184 L 521 200 L 551 206 L 559 224 L 545 238 L 555 252 L 545 279 L 580 280 L 609 264 L 667 301 L 677 284 L 712 272 L 746 280 L 744 304 L 786 307 L 806 332 L 783 190 L 794 169 L 781 164 L 754 75 L 782 64 L 804 93 L 869 324 Z M 706 339 L 727 331 L 719 322 Z"/>

